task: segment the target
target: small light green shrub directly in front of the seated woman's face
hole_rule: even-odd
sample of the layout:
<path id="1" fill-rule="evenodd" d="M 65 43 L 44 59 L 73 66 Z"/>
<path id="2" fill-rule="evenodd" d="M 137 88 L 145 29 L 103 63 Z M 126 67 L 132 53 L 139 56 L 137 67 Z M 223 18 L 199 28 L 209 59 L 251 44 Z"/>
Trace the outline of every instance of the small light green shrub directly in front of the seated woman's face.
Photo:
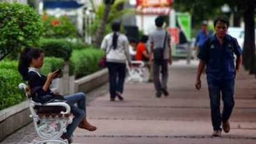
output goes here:
<path id="1" fill-rule="evenodd" d="M 44 65 L 40 69 L 40 73 L 47 76 L 49 72 L 59 68 L 63 68 L 64 60 L 57 57 L 45 57 Z"/>

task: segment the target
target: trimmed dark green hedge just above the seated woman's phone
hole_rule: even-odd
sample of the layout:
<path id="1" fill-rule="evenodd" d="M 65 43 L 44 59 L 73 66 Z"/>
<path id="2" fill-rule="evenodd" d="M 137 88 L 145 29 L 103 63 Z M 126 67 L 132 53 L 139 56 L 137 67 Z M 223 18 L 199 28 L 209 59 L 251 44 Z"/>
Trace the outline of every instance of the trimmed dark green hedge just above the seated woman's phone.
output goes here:
<path id="1" fill-rule="evenodd" d="M 65 39 L 41 39 L 40 48 L 47 57 L 61 57 L 63 60 L 70 60 L 72 53 L 71 43 Z"/>

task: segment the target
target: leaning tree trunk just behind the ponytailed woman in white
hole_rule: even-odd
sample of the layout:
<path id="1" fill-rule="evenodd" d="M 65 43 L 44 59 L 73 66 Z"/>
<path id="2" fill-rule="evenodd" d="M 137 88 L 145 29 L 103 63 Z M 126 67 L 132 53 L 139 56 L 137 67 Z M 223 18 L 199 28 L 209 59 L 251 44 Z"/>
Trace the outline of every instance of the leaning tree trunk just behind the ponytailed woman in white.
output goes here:
<path id="1" fill-rule="evenodd" d="M 94 44 L 95 46 L 97 46 L 97 48 L 100 47 L 100 44 L 102 43 L 102 39 L 104 37 L 105 24 L 106 24 L 106 19 L 109 16 L 110 7 L 111 7 L 111 3 L 107 3 L 105 6 L 104 15 L 102 17 L 102 20 L 100 21 L 99 28 L 97 29 L 97 32 L 96 32 Z"/>

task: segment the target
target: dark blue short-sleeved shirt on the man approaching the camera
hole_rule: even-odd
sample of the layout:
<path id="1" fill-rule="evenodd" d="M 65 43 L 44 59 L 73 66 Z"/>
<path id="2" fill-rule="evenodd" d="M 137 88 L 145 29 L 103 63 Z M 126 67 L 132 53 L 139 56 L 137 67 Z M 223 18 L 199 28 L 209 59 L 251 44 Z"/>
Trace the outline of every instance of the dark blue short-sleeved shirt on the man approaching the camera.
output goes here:
<path id="1" fill-rule="evenodd" d="M 207 78 L 234 78 L 234 54 L 241 55 L 237 39 L 225 35 L 221 46 L 215 34 L 200 46 L 198 58 L 207 64 Z"/>

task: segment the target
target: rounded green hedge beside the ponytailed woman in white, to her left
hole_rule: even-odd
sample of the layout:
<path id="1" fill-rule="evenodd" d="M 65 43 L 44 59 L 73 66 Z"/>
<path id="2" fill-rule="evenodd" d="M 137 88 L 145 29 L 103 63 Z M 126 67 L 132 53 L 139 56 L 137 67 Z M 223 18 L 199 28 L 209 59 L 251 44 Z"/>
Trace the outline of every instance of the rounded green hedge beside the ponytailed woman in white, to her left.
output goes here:
<path id="1" fill-rule="evenodd" d="M 99 60 L 104 55 L 104 51 L 96 48 L 86 48 L 85 50 L 75 50 L 72 53 L 71 62 L 74 63 L 74 75 L 76 78 L 89 75 L 98 71 Z"/>

